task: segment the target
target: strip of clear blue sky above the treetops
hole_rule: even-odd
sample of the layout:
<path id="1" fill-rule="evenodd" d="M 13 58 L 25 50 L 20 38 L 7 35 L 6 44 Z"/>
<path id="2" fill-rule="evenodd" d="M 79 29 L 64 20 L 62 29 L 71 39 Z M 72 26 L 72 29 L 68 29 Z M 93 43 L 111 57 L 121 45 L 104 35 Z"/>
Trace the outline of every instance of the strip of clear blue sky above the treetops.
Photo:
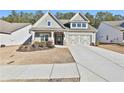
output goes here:
<path id="1" fill-rule="evenodd" d="M 28 12 L 28 13 L 35 13 L 37 10 L 16 10 L 17 12 Z M 43 12 L 47 12 L 48 10 L 43 10 Z M 56 12 L 81 12 L 81 13 L 86 13 L 89 12 L 92 15 L 95 15 L 97 12 L 111 12 L 114 15 L 123 15 L 124 16 L 124 10 L 49 10 L 51 13 L 55 14 Z M 0 10 L 0 18 L 1 17 L 6 17 L 11 13 L 11 10 Z"/>

